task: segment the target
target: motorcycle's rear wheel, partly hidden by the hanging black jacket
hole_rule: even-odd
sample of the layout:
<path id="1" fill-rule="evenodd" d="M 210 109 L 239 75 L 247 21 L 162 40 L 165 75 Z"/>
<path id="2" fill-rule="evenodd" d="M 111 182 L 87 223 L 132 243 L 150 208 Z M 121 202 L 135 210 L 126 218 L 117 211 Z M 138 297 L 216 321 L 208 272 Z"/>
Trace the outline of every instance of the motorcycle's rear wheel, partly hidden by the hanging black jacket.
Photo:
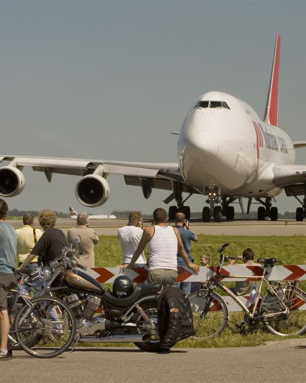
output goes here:
<path id="1" fill-rule="evenodd" d="M 146 301 L 140 303 L 139 306 L 144 310 L 146 315 L 153 321 L 156 326 L 155 331 L 150 330 L 148 321 L 145 320 L 143 315 L 136 313 L 135 322 L 137 324 L 137 329 L 139 333 L 147 336 L 147 342 L 136 342 L 135 346 L 140 348 L 140 350 L 147 352 L 157 352 L 160 347 L 159 335 L 158 335 L 158 312 L 157 312 L 157 302 L 155 300 Z M 155 332 L 154 334 L 151 332 Z"/>

